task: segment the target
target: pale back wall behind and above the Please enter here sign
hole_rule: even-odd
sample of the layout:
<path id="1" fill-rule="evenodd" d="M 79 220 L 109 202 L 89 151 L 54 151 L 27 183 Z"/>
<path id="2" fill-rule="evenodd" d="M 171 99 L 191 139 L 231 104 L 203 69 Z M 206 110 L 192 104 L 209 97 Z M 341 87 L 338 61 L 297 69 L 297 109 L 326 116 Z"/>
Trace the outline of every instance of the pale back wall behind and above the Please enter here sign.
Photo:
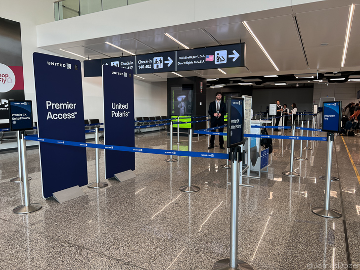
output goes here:
<path id="1" fill-rule="evenodd" d="M 314 85 L 314 104 L 320 104 L 320 97 L 335 97 L 335 100 L 342 101 L 344 108 L 350 102 L 358 103 L 356 99 L 356 92 L 360 90 L 359 83 L 345 83 L 345 84 L 316 84 Z M 322 102 L 322 101 L 321 101 Z"/>

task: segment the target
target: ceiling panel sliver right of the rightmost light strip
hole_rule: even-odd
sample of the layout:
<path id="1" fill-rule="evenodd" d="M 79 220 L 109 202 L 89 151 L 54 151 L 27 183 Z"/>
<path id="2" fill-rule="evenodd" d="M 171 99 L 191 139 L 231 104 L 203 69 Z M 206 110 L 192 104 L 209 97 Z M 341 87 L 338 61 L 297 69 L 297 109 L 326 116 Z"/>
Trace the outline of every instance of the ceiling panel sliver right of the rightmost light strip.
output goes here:
<path id="1" fill-rule="evenodd" d="M 348 52 L 344 67 L 360 65 L 360 5 L 355 6 L 353 24 L 351 26 Z"/>

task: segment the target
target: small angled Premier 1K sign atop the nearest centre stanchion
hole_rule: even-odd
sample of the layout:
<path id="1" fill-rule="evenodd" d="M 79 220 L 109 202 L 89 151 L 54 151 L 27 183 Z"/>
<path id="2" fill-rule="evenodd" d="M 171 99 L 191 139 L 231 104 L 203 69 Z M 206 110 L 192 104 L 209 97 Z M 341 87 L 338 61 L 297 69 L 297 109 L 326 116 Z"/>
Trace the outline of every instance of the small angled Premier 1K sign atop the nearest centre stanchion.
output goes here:
<path id="1" fill-rule="evenodd" d="M 231 148 L 244 141 L 244 98 L 230 96 L 227 102 L 227 148 Z"/>

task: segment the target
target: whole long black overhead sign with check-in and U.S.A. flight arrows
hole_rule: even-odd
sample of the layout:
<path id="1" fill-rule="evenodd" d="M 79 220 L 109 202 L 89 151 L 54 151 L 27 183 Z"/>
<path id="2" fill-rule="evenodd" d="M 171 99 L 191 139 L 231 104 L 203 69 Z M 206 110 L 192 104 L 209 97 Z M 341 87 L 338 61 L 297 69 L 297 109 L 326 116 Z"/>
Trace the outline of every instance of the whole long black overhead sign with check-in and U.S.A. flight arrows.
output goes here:
<path id="1" fill-rule="evenodd" d="M 101 64 L 130 69 L 133 70 L 134 74 L 244 67 L 245 48 L 245 43 L 239 43 L 196 49 L 163 51 L 134 56 L 105 58 L 101 60 Z M 84 61 L 84 69 L 88 66 L 86 62 L 87 61 Z M 94 76 L 93 73 L 91 74 Z M 101 73 L 97 74 L 97 76 L 101 76 Z"/>

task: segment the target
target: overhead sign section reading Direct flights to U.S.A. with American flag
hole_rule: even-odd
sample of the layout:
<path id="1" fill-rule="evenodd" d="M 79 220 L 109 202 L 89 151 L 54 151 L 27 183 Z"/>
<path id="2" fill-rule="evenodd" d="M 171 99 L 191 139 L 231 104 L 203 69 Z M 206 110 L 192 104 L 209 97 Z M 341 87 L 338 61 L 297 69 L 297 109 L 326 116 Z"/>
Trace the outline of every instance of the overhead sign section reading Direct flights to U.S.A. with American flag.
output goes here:
<path id="1" fill-rule="evenodd" d="M 177 51 L 177 71 L 245 66 L 245 43 Z"/>

